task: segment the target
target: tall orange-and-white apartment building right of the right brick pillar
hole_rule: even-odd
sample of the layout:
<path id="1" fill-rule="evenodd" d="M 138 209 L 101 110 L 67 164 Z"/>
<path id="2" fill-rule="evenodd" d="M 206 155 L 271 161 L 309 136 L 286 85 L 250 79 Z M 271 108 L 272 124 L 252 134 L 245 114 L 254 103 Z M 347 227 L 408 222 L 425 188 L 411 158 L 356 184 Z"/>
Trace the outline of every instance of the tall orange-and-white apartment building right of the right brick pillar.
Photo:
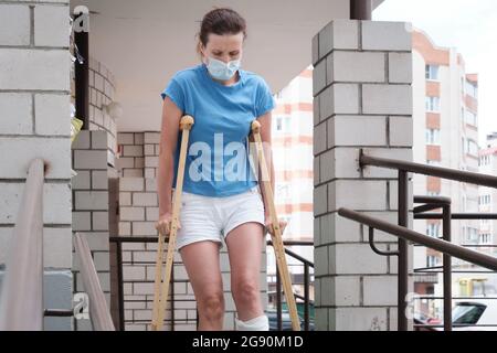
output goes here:
<path id="1" fill-rule="evenodd" d="M 454 47 L 437 46 L 422 31 L 413 31 L 413 122 L 414 161 L 432 165 L 478 172 L 477 75 L 467 74 L 461 54 Z M 441 195 L 452 201 L 452 212 L 478 212 L 478 186 L 440 178 L 415 174 L 415 195 Z M 479 221 L 452 222 L 452 242 L 476 244 Z M 442 220 L 416 220 L 414 229 L 434 237 L 442 236 Z M 453 259 L 455 267 L 464 263 Z M 414 268 L 440 272 L 442 255 L 415 247 Z M 430 269 L 431 268 L 431 269 Z M 442 291 L 441 276 L 421 272 L 415 291 L 433 295 Z M 457 275 L 453 276 L 457 289 Z M 441 301 L 424 306 L 432 313 Z"/>

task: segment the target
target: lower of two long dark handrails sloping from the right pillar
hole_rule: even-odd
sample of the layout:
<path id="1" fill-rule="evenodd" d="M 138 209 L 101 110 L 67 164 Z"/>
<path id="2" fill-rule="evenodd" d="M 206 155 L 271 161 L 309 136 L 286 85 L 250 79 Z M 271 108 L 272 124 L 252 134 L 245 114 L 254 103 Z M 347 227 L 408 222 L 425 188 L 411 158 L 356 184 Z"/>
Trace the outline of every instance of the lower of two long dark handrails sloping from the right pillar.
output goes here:
<path id="1" fill-rule="evenodd" d="M 495 258 L 493 256 L 488 256 L 486 254 L 482 254 L 482 253 L 478 253 L 475 250 L 469 250 L 459 245 L 455 245 L 455 244 L 448 243 L 446 240 L 437 239 L 437 238 L 411 231 L 406 227 L 403 227 L 403 226 L 400 226 L 396 224 L 392 224 L 392 223 L 389 223 L 389 222 L 385 222 L 385 221 L 382 221 L 382 220 L 379 220 L 376 217 L 371 217 L 371 216 L 364 215 L 362 213 L 359 213 L 359 212 L 356 212 L 356 211 L 352 211 L 349 208 L 341 207 L 338 210 L 338 214 L 346 218 L 366 224 L 376 229 L 380 229 L 380 231 L 387 232 L 391 235 L 395 235 L 405 240 L 410 240 L 410 242 L 417 243 L 417 244 L 423 244 L 424 246 L 427 246 L 427 247 L 438 250 L 441 253 L 445 253 L 451 256 L 457 257 L 462 260 L 466 260 L 472 264 L 479 265 L 482 267 L 497 271 L 497 258 Z"/>

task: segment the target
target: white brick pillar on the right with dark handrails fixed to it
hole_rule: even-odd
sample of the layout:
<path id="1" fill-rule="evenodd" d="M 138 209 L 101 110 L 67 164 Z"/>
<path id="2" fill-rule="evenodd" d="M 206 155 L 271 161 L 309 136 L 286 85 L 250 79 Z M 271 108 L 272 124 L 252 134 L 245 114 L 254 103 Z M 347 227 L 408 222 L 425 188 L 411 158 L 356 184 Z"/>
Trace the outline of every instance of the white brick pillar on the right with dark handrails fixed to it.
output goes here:
<path id="1" fill-rule="evenodd" d="M 396 171 L 361 170 L 358 159 L 362 148 L 412 160 L 410 25 L 331 21 L 313 39 L 313 64 L 316 325 L 396 330 L 396 258 L 374 254 L 368 227 L 337 210 L 396 224 Z M 376 242 L 396 248 L 381 232 Z"/>

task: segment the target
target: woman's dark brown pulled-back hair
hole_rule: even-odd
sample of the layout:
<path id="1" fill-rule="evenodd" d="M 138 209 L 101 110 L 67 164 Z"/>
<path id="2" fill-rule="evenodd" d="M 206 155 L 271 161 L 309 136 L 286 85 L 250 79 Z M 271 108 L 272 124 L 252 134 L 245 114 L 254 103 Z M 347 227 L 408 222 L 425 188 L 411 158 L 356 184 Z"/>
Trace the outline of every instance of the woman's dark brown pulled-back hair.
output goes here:
<path id="1" fill-rule="evenodd" d="M 230 8 L 218 8 L 204 14 L 200 24 L 200 32 L 197 33 L 199 42 L 197 44 L 197 54 L 202 57 L 201 45 L 207 46 L 209 33 L 218 35 L 239 34 L 243 32 L 243 40 L 247 38 L 245 19 L 236 11 Z"/>

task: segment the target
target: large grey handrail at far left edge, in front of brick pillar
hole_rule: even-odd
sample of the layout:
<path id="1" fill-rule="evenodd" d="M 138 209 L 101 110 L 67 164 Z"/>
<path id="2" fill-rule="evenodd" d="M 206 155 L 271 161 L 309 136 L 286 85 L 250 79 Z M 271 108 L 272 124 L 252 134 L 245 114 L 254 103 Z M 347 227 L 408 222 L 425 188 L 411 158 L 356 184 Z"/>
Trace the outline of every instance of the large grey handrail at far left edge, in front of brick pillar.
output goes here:
<path id="1" fill-rule="evenodd" d="M 7 260 L 0 331 L 43 330 L 44 162 L 30 163 Z"/>

